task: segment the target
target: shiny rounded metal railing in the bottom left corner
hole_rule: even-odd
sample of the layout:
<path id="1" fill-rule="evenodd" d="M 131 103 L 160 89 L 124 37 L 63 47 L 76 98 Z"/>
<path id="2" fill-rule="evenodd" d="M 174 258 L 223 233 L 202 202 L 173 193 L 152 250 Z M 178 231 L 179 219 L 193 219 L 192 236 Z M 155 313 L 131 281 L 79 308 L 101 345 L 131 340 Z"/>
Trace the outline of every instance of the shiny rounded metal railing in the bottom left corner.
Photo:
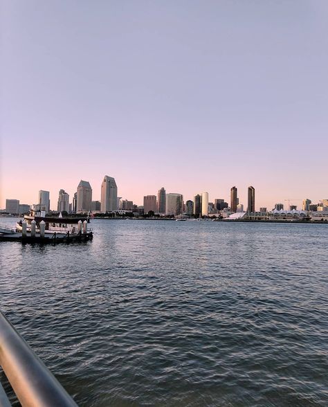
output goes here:
<path id="1" fill-rule="evenodd" d="M 77 407 L 44 363 L 0 312 L 0 365 L 23 407 Z M 10 406 L 0 384 L 0 406 Z"/>

